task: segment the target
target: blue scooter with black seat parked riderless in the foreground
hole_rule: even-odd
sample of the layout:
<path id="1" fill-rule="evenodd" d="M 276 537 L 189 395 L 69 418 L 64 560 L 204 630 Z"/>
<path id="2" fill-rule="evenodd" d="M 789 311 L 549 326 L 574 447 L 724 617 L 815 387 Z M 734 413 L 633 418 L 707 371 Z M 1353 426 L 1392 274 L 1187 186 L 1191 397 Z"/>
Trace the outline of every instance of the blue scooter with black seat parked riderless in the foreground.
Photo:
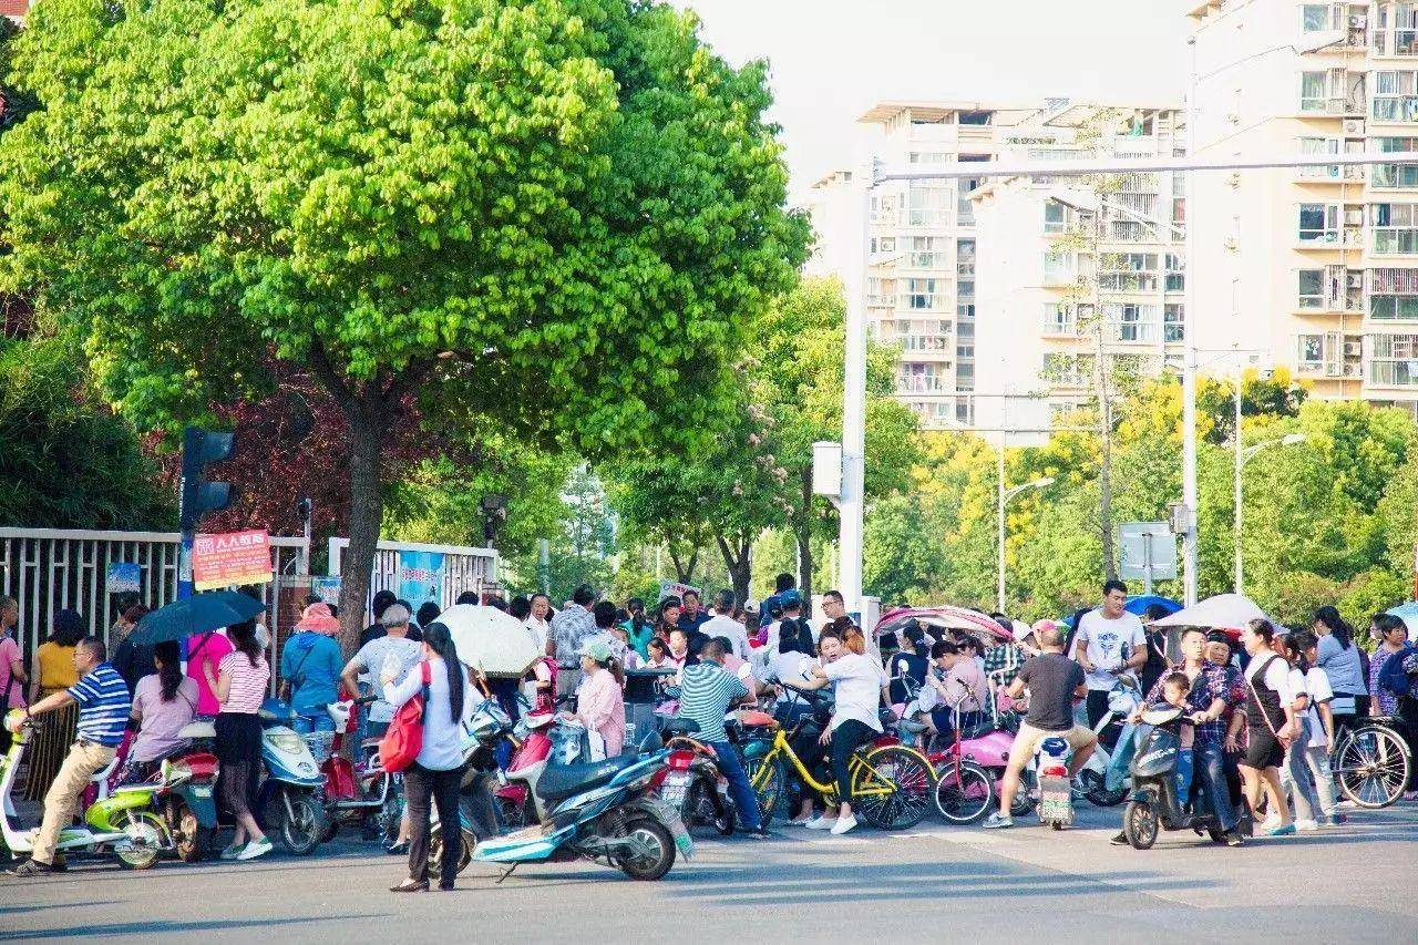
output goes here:
<path id="1" fill-rule="evenodd" d="M 675 864 L 678 850 L 693 856 L 693 840 L 679 812 L 649 793 L 668 770 L 669 752 L 659 735 L 645 732 L 635 753 L 586 765 L 549 765 L 536 782 L 550 816 L 545 823 L 484 840 L 472 858 L 506 863 L 498 880 L 522 863 L 593 860 L 620 868 L 632 880 L 658 880 Z"/>

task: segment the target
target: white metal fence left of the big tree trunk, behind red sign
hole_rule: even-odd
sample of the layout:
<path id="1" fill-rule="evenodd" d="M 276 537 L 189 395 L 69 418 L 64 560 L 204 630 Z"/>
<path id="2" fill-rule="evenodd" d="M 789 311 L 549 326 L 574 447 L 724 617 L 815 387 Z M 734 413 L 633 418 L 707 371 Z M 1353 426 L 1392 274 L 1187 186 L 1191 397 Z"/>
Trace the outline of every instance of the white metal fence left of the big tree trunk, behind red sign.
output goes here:
<path id="1" fill-rule="evenodd" d="M 0 528 L 0 595 L 20 602 L 18 643 L 26 656 L 50 633 L 58 610 L 77 610 L 89 631 L 108 640 L 118 620 L 118 596 L 108 592 L 109 565 L 139 566 L 138 596 L 147 607 L 177 597 L 177 532 L 89 532 L 51 528 Z M 271 538 L 275 580 L 261 585 L 267 616 L 279 639 L 282 580 L 308 552 L 303 538 Z M 302 578 L 302 583 L 308 579 Z"/>

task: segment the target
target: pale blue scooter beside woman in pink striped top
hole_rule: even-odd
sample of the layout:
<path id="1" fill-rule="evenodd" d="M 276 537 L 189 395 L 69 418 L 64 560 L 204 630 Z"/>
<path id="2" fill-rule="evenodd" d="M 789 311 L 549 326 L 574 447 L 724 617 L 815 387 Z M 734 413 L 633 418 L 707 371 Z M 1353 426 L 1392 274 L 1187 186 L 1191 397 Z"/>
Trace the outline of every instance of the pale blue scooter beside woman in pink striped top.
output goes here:
<path id="1" fill-rule="evenodd" d="M 286 853 L 306 856 L 325 836 L 325 779 L 309 745 L 289 724 L 294 712 L 267 700 L 261 707 L 261 765 L 265 778 L 257 789 L 257 816 L 281 840 Z"/>

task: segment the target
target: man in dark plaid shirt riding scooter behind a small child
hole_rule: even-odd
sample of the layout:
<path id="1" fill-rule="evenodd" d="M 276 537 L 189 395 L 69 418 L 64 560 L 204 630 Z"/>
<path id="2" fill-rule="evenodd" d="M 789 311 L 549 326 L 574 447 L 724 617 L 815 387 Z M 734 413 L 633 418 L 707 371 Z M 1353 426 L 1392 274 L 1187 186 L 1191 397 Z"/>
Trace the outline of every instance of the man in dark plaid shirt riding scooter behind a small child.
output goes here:
<path id="1" fill-rule="evenodd" d="M 1202 656 L 1205 647 L 1205 630 L 1187 627 L 1181 634 L 1181 663 L 1167 667 L 1167 671 L 1153 685 L 1151 692 L 1143 700 L 1143 705 L 1154 705 L 1163 698 L 1163 680 L 1173 673 L 1181 673 L 1191 680 L 1187 709 L 1195 725 L 1194 770 L 1201 775 L 1201 788 L 1207 792 L 1217 822 L 1227 833 L 1227 843 L 1239 847 L 1241 833 L 1236 830 L 1236 812 L 1231 805 L 1231 792 L 1227 788 L 1225 756 L 1222 753 L 1227 736 L 1222 719 L 1227 715 L 1227 707 L 1234 702 L 1235 691 L 1225 667 L 1219 667 Z M 1134 721 L 1140 715 L 1141 709 Z M 1123 846 L 1127 843 L 1127 837 L 1120 833 L 1109 843 Z"/>

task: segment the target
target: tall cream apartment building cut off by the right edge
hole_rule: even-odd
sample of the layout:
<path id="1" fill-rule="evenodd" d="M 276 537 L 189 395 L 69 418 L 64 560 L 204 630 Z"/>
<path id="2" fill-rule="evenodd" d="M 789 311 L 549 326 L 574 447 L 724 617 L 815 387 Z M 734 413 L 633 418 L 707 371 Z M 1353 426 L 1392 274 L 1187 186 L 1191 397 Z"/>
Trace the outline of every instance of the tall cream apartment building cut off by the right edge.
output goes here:
<path id="1" fill-rule="evenodd" d="M 1190 6 L 1198 155 L 1418 150 L 1418 3 Z M 1198 339 L 1286 365 L 1313 396 L 1418 413 L 1418 165 L 1195 186 Z"/>

